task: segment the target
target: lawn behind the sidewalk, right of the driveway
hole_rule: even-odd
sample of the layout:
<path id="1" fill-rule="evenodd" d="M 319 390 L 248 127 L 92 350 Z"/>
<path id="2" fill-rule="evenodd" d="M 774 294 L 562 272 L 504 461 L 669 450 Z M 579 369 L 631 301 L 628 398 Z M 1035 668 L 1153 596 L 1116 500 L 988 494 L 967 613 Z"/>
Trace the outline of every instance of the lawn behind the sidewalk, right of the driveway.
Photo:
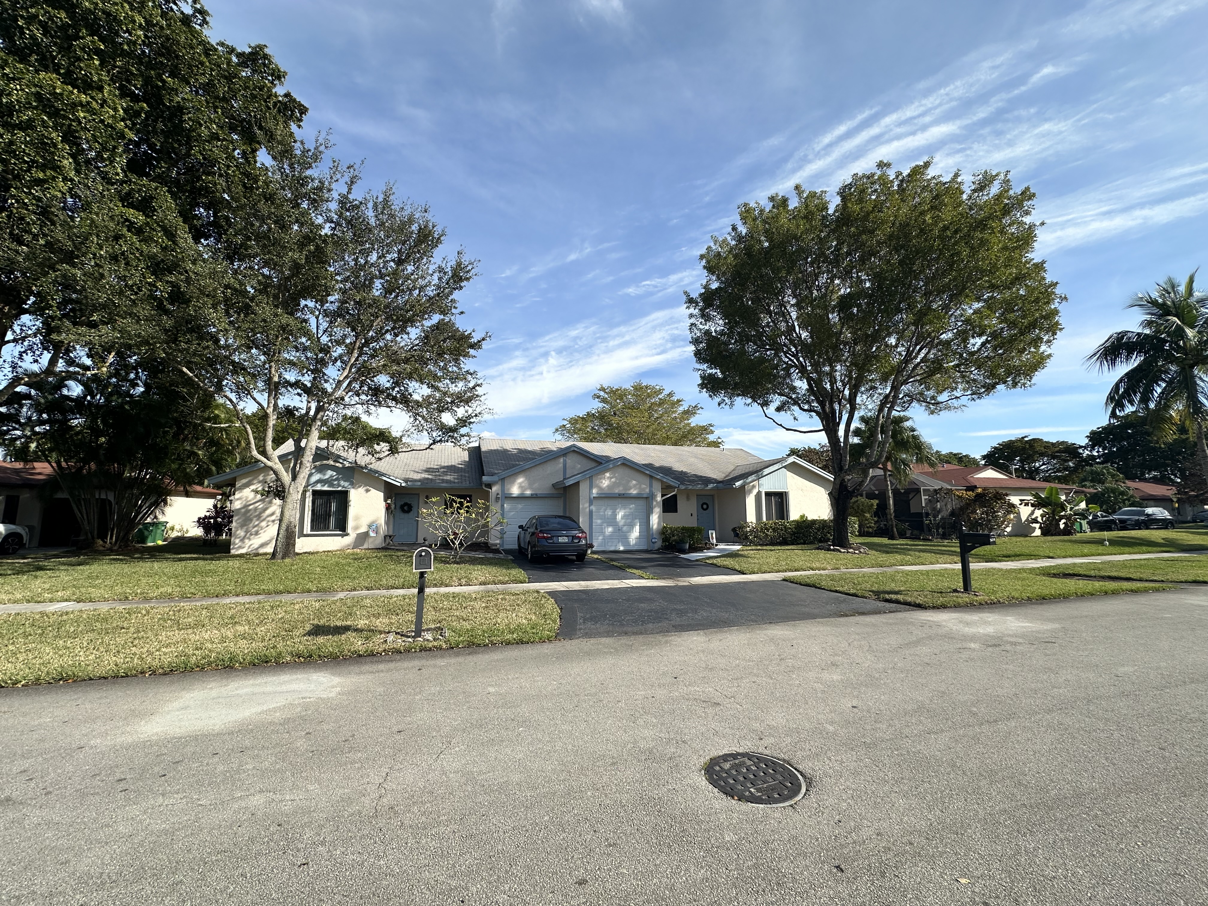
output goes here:
<path id="1" fill-rule="evenodd" d="M 905 567 L 924 563 L 956 563 L 956 541 L 889 541 L 883 538 L 855 539 L 872 550 L 866 556 L 827 553 L 813 547 L 743 547 L 709 563 L 738 573 L 791 573 L 802 569 L 856 569 L 860 567 Z M 1108 546 L 1104 547 L 1104 540 Z M 1208 550 L 1208 528 L 1177 528 L 1149 532 L 1096 532 L 1069 538 L 1000 538 L 991 547 L 974 551 L 974 562 L 1027 561 L 1044 557 L 1097 557 L 1115 553 L 1160 553 L 1163 551 Z"/>

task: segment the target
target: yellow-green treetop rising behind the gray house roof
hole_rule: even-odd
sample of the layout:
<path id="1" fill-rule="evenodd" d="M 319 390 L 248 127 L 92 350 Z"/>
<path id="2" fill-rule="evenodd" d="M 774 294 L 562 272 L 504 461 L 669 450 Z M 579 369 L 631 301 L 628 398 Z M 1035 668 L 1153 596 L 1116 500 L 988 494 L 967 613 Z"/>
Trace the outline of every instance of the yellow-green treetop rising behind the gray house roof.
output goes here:
<path id="1" fill-rule="evenodd" d="M 670 447 L 720 447 L 713 425 L 697 424 L 701 406 L 685 405 L 667 388 L 635 381 L 628 387 L 600 384 L 592 394 L 598 403 L 581 416 L 570 416 L 553 434 L 568 441 L 597 443 L 654 443 Z"/>

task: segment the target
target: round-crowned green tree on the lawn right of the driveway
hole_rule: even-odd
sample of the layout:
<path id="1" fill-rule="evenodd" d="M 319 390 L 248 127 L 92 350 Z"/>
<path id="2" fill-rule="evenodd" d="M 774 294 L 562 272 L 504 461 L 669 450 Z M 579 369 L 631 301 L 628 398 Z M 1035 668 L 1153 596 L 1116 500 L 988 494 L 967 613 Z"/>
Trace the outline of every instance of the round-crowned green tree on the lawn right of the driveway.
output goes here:
<path id="1" fill-rule="evenodd" d="M 834 202 L 797 186 L 743 204 L 702 254 L 704 285 L 686 297 L 701 389 L 825 437 L 835 546 L 849 545 L 849 501 L 885 460 L 895 413 L 1026 387 L 1049 360 L 1061 296 L 1032 254 L 1033 198 L 1003 173 L 966 184 L 882 163 Z"/>

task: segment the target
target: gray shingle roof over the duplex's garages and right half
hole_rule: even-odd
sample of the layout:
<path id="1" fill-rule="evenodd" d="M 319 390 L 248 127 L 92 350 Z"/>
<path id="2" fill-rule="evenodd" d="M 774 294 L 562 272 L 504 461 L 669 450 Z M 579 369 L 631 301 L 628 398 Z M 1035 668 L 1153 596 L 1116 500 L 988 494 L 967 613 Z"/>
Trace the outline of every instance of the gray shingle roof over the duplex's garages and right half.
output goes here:
<path id="1" fill-rule="evenodd" d="M 524 465 L 546 453 L 569 447 L 569 441 L 522 441 L 503 437 L 483 437 L 482 470 L 484 475 L 499 475 L 509 469 Z M 755 472 L 774 459 L 760 459 L 741 447 L 658 447 L 644 443 L 577 443 L 590 453 L 605 460 L 628 457 L 635 463 L 652 469 L 683 487 L 695 488 L 716 484 L 747 472 Z"/>

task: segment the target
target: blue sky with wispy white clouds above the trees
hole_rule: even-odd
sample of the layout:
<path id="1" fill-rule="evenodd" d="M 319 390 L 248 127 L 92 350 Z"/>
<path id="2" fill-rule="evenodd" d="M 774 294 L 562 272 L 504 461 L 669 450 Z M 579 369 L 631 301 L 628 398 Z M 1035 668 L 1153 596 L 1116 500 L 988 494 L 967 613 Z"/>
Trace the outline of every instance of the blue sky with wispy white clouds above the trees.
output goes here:
<path id="1" fill-rule="evenodd" d="M 1011 170 L 1069 297 L 1033 388 L 919 418 L 945 451 L 1081 441 L 1109 383 L 1084 356 L 1132 324 L 1132 294 L 1208 265 L 1208 0 L 209 8 L 215 37 L 269 46 L 308 130 L 429 203 L 481 262 L 463 303 L 492 335 L 498 436 L 548 437 L 597 384 L 641 378 L 703 403 L 727 446 L 800 442 L 699 395 L 683 291 L 741 202 L 882 158 Z"/>

